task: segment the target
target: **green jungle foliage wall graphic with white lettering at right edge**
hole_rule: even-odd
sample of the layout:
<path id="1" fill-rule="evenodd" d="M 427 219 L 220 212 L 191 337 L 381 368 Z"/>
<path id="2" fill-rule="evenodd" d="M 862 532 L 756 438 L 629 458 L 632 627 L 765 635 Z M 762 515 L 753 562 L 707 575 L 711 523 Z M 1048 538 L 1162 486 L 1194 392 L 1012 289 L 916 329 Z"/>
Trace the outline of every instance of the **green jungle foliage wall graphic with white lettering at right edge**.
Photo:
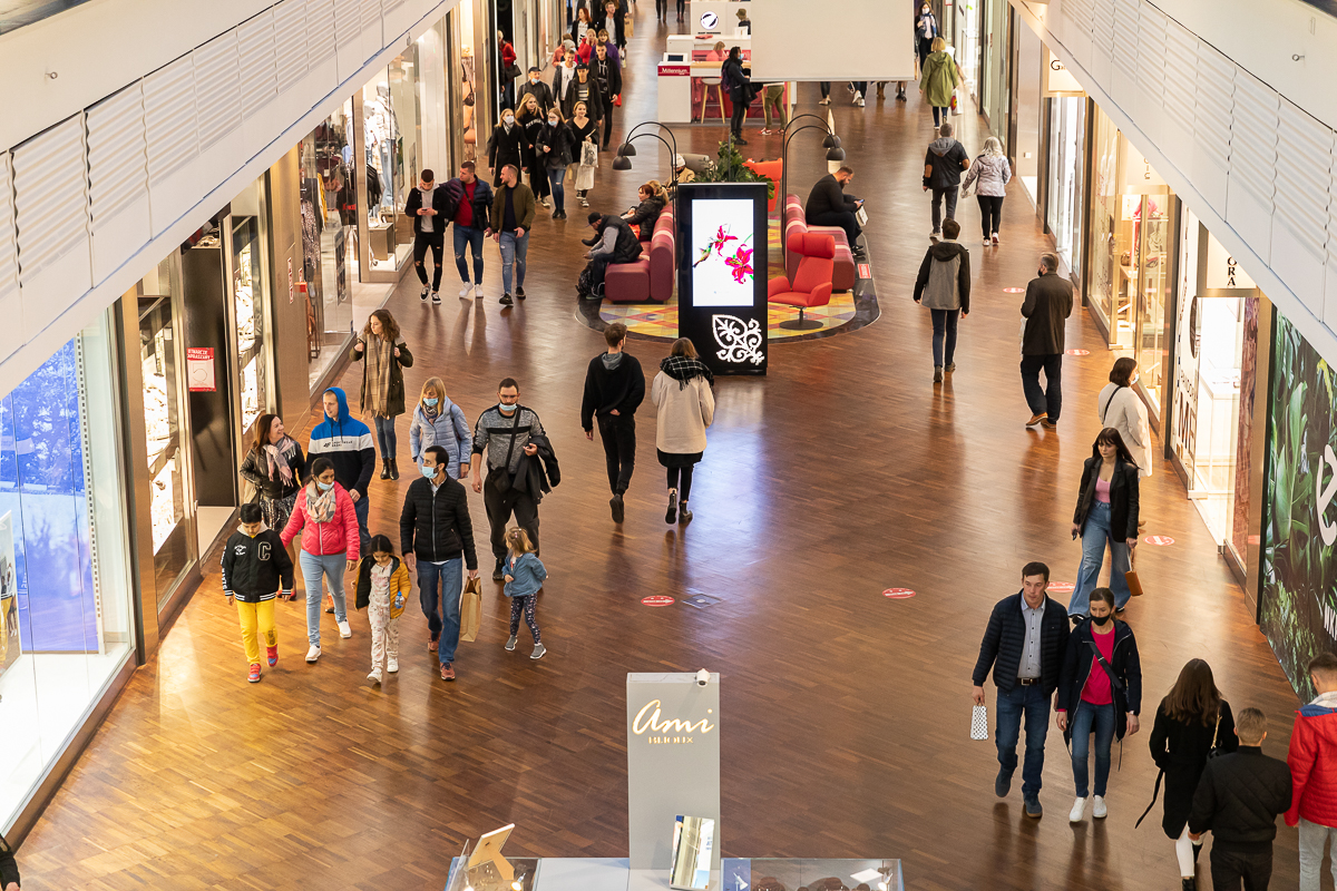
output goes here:
<path id="1" fill-rule="evenodd" d="M 1337 649 L 1337 557 L 1322 538 L 1325 521 L 1329 537 L 1337 534 L 1337 504 L 1329 504 L 1337 468 L 1324 458 L 1337 398 L 1333 369 L 1280 314 L 1273 362 L 1262 632 L 1292 687 L 1309 700 L 1314 691 L 1305 667 Z"/>

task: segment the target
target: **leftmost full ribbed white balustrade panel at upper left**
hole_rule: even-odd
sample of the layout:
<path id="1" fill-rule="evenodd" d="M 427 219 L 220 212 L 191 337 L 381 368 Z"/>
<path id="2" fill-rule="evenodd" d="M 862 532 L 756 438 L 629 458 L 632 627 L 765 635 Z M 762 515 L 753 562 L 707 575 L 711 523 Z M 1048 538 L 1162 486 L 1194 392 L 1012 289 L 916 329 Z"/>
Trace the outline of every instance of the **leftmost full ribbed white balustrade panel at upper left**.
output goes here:
<path id="1" fill-rule="evenodd" d="M 83 114 L 13 150 L 13 210 L 24 335 L 92 287 Z"/>

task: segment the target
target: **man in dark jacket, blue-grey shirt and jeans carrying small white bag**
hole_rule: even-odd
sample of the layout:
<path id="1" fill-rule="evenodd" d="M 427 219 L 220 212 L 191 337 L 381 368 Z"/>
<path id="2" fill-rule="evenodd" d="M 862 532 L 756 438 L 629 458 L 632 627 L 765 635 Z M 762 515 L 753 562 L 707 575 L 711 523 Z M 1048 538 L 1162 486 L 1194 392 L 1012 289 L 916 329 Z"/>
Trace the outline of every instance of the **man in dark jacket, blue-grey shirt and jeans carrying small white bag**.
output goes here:
<path id="1" fill-rule="evenodd" d="M 997 716 L 993 741 L 999 749 L 999 775 L 993 792 L 1001 799 L 1012 789 L 1016 744 L 1025 719 L 1025 763 L 1021 767 L 1021 799 L 1025 815 L 1039 818 L 1040 777 L 1044 772 L 1044 737 L 1050 728 L 1050 703 L 1059 687 L 1059 673 L 1068 643 L 1068 610 L 1044 593 L 1050 568 L 1028 562 L 1021 568 L 1021 590 L 993 606 L 980 659 L 972 676 L 976 705 L 984 704 L 984 679 L 993 668 Z"/>

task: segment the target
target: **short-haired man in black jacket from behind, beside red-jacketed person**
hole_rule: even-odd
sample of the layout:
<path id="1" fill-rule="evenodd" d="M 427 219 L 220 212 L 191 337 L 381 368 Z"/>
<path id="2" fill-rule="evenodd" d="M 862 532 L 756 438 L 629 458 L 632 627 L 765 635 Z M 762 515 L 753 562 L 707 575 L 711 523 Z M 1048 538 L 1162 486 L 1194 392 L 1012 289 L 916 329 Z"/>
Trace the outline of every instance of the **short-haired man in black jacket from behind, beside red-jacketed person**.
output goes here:
<path id="1" fill-rule="evenodd" d="M 1217 891 L 1267 891 L 1277 815 L 1290 807 L 1290 768 L 1262 753 L 1267 717 L 1257 708 L 1235 716 L 1239 748 L 1207 760 L 1193 796 L 1189 838 L 1211 831 L 1211 887 Z M 1185 890 L 1195 887 L 1183 880 Z"/>

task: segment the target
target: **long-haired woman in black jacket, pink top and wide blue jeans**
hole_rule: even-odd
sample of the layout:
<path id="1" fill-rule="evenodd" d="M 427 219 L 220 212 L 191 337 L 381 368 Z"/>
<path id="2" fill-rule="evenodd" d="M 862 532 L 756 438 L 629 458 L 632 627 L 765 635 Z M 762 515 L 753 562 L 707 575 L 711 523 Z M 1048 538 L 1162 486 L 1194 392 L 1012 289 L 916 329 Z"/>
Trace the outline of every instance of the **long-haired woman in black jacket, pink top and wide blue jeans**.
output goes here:
<path id="1" fill-rule="evenodd" d="M 1091 457 L 1082 468 L 1078 508 L 1072 514 L 1072 537 L 1082 536 L 1082 564 L 1078 584 L 1068 601 L 1068 614 L 1082 616 L 1087 598 L 1100 577 L 1104 546 L 1110 545 L 1110 588 L 1115 608 L 1128 605 L 1128 554 L 1138 545 L 1138 465 L 1114 427 L 1100 430 Z"/>

